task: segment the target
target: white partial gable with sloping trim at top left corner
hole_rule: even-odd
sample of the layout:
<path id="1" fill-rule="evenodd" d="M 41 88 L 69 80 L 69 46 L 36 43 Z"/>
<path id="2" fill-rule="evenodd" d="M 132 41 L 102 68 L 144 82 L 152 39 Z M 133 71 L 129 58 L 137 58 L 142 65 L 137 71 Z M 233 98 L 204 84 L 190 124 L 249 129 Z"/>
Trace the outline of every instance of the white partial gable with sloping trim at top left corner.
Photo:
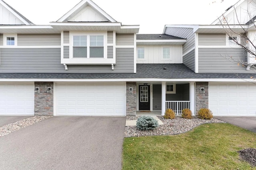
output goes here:
<path id="1" fill-rule="evenodd" d="M 34 25 L 3 0 L 0 0 L 0 14 L 1 25 Z"/>

